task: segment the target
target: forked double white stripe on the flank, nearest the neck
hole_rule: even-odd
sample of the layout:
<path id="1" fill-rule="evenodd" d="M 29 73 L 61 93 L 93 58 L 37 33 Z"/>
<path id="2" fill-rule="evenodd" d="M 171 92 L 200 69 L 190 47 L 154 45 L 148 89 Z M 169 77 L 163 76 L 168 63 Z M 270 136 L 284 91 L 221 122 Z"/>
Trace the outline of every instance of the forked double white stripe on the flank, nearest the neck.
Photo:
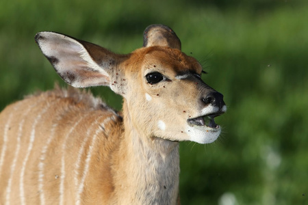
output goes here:
<path id="1" fill-rule="evenodd" d="M 84 172 L 82 172 L 82 176 L 81 176 L 81 180 L 78 184 L 78 176 L 79 176 L 79 172 L 78 172 L 78 169 L 80 167 L 80 162 L 81 162 L 81 156 L 82 154 L 84 153 L 84 146 L 86 146 L 86 141 L 88 141 L 88 138 L 89 138 L 89 135 L 90 135 L 90 132 L 88 130 L 87 132 L 87 136 L 86 136 L 86 139 L 84 139 L 82 145 L 81 145 L 81 148 L 79 149 L 79 153 L 78 153 L 78 159 L 77 159 L 77 163 L 76 163 L 76 166 L 75 166 L 75 171 L 76 171 L 76 175 L 75 175 L 75 185 L 77 186 L 77 198 L 76 198 L 76 203 L 77 205 L 81 204 L 81 193 L 84 191 L 84 182 L 86 180 L 86 176 L 87 176 L 87 173 L 88 173 L 88 169 L 89 169 L 89 165 L 90 165 L 90 159 L 92 157 L 92 152 L 93 152 L 93 147 L 95 145 L 95 141 L 97 139 L 97 136 L 99 134 L 99 132 L 102 131 L 102 127 L 104 127 L 104 125 L 109 122 L 110 120 L 113 120 L 114 119 L 114 115 L 110 116 L 110 117 L 107 117 L 105 118 L 105 120 L 102 122 L 102 123 L 99 123 L 99 119 L 95 120 L 95 122 L 91 125 L 92 126 L 99 126 L 99 128 L 97 128 L 97 130 L 95 131 L 94 135 L 92 136 L 92 141 L 91 141 L 91 144 L 90 144 L 90 147 L 89 147 L 89 151 L 87 153 L 87 157 L 86 157 L 86 164 L 84 165 Z M 92 129 L 91 129 L 92 130 Z"/>

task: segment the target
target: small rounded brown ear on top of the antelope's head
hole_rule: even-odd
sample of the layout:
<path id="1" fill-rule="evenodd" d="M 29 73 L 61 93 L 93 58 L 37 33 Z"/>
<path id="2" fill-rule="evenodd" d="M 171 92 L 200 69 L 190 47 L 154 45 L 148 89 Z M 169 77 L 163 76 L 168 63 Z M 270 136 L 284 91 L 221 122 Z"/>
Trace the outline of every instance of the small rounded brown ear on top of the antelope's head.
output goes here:
<path id="1" fill-rule="evenodd" d="M 181 50 L 181 41 L 169 27 L 161 24 L 149 25 L 143 34 L 143 46 L 168 46 Z"/>

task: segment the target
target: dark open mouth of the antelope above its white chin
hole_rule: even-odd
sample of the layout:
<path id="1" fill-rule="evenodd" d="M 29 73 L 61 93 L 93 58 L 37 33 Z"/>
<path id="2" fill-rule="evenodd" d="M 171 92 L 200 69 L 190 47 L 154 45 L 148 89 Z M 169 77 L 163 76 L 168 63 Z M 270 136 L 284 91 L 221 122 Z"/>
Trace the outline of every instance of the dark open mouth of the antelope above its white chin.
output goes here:
<path id="1" fill-rule="evenodd" d="M 218 129 L 220 126 L 215 123 L 214 118 L 221 114 L 222 113 L 211 113 L 210 115 L 188 119 L 188 124 L 190 124 L 190 126 L 207 126 L 209 128 Z"/>

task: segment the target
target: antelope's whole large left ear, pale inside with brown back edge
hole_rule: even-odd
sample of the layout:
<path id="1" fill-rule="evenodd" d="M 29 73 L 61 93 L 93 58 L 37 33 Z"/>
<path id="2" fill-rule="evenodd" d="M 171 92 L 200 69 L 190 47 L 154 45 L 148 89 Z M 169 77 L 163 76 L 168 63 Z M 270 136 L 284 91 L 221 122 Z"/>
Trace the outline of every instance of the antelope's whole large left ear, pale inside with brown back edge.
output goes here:
<path id="1" fill-rule="evenodd" d="M 40 32 L 35 40 L 66 83 L 74 87 L 109 85 L 113 88 L 110 82 L 121 55 L 60 33 Z"/>

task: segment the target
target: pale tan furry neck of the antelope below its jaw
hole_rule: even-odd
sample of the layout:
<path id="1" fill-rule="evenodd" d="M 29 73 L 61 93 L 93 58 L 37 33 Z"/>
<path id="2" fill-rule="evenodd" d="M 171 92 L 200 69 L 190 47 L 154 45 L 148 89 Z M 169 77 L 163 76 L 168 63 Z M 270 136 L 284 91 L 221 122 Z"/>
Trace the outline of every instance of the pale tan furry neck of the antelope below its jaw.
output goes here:
<path id="1" fill-rule="evenodd" d="M 132 204 L 175 204 L 179 192 L 179 142 L 142 136 L 123 105 L 125 134 L 118 161 L 123 190 Z M 123 158 L 125 160 L 123 160 Z M 117 178 L 117 177 L 116 177 Z M 123 197 L 125 198 L 125 197 Z"/>

